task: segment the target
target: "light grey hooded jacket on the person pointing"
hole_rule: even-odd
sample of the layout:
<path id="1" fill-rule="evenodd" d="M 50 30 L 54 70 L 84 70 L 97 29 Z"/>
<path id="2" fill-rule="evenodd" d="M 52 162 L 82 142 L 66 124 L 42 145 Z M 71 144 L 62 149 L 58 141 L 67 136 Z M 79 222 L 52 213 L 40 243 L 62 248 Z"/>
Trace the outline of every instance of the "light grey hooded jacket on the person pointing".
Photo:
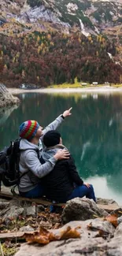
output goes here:
<path id="1" fill-rule="evenodd" d="M 63 120 L 63 117 L 57 117 L 54 122 L 49 124 L 43 130 L 43 135 L 50 130 L 57 129 Z M 27 139 L 20 140 L 19 168 L 20 176 L 22 177 L 20 178 L 18 189 L 21 192 L 27 192 L 33 189 L 39 183 L 40 178 L 50 173 L 56 164 L 56 159 L 54 156 L 50 157 L 43 165 L 39 161 L 39 158 L 41 158 L 43 152 L 43 135 L 39 139 L 39 146 L 30 143 Z"/>

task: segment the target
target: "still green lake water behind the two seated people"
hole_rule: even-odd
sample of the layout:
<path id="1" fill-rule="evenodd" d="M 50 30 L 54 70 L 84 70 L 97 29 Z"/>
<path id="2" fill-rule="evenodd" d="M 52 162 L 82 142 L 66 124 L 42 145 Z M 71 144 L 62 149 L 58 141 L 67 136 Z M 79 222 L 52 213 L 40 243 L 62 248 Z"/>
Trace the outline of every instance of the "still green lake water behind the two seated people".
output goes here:
<path id="1" fill-rule="evenodd" d="M 17 109 L 0 111 L 0 150 L 17 138 L 23 121 L 45 127 L 72 106 L 72 116 L 59 128 L 64 145 L 96 195 L 122 204 L 122 95 L 26 93 L 19 98 Z"/>

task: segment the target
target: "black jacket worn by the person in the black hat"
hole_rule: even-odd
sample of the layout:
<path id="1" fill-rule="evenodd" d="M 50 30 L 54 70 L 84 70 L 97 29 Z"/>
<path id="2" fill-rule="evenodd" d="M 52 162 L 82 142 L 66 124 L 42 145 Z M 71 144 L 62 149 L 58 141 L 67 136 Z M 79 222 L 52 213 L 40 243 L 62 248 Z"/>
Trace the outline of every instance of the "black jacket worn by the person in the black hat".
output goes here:
<path id="1" fill-rule="evenodd" d="M 41 180 L 45 187 L 46 198 L 56 202 L 66 202 L 68 196 L 72 194 L 74 184 L 83 185 L 72 157 L 57 161 L 53 171 Z"/>

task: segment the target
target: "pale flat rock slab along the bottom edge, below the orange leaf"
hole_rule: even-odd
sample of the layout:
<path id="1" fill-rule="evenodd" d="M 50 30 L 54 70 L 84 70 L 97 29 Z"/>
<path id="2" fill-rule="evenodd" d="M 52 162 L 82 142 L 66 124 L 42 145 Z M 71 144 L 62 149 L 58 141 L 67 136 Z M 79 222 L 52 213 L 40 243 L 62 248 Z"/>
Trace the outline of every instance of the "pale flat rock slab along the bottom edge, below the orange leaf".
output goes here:
<path id="1" fill-rule="evenodd" d="M 68 239 L 49 243 L 44 247 L 25 243 L 15 256 L 121 256 L 122 247 L 104 243 L 102 239 L 89 239 L 83 243 L 80 239 Z"/>

